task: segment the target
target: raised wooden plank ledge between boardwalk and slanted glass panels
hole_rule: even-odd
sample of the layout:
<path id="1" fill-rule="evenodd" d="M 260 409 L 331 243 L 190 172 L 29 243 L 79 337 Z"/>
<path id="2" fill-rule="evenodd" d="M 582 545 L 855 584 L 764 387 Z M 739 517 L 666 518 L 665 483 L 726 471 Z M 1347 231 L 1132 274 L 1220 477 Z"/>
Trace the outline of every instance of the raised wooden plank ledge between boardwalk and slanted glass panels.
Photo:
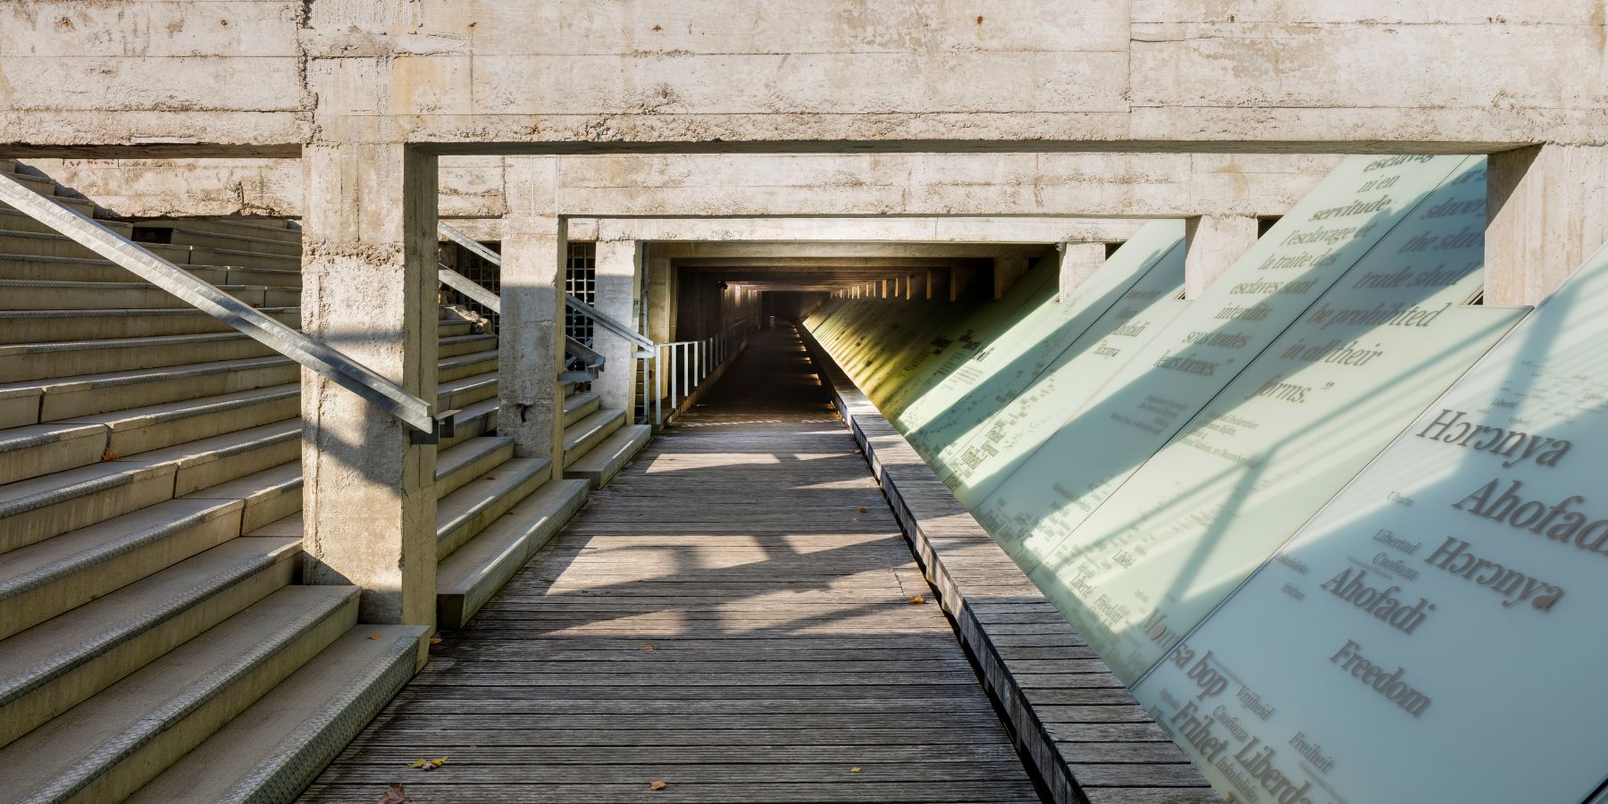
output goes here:
<path id="1" fill-rule="evenodd" d="M 802 326 L 942 608 L 1060 802 L 1220 802 L 1206 777 Z"/>

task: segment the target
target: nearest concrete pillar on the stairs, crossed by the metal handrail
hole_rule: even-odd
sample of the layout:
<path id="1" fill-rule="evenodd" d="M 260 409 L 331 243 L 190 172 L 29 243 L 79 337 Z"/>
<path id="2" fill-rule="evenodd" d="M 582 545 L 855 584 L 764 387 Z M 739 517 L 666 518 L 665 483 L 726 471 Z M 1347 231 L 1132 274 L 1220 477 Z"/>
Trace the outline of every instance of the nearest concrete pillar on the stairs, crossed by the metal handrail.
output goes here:
<path id="1" fill-rule="evenodd" d="M 302 150 L 302 328 L 436 400 L 436 158 L 400 143 Z M 309 584 L 362 589 L 362 622 L 436 622 L 436 447 L 302 371 Z"/>

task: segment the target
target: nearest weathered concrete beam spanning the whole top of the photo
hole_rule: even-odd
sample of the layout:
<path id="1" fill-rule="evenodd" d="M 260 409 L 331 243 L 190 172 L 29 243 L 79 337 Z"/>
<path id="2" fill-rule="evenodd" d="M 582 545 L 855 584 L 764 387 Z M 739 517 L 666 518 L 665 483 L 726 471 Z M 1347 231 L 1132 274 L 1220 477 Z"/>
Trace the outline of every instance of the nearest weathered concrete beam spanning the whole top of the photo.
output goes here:
<path id="1" fill-rule="evenodd" d="M 13 2 L 0 143 L 1600 143 L 1603 21 L 1602 0 Z"/>

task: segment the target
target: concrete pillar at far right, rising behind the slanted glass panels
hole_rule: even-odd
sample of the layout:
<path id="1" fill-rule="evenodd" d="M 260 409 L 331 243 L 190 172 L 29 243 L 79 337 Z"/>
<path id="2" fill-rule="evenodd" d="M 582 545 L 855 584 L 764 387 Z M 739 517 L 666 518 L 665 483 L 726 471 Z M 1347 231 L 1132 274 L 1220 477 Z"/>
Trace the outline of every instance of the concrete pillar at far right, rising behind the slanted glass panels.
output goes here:
<path id="1" fill-rule="evenodd" d="M 1608 146 L 1486 158 L 1486 304 L 1537 304 L 1608 241 Z"/>

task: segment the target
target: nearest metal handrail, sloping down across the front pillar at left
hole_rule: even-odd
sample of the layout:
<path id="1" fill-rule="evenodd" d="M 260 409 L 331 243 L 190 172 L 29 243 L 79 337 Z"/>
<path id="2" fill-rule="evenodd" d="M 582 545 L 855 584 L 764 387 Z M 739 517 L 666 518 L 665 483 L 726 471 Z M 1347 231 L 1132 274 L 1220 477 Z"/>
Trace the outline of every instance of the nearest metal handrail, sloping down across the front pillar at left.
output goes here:
<path id="1" fill-rule="evenodd" d="M 407 392 L 339 349 L 320 344 L 264 315 L 76 209 L 56 204 L 5 174 L 0 174 L 0 201 L 397 416 L 423 434 L 423 437 L 415 436 L 415 441 L 431 442 L 450 436 L 455 410 L 436 416 L 436 405 Z"/>

